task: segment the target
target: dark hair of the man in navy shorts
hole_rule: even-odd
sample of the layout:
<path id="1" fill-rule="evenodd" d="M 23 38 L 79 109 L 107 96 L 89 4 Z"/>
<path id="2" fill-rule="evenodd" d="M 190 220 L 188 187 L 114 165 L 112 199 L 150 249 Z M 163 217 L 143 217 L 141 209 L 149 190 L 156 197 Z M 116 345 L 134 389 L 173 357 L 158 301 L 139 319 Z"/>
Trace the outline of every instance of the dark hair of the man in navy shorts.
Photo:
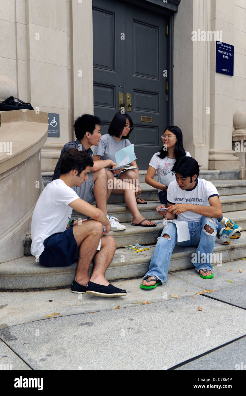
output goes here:
<path id="1" fill-rule="evenodd" d="M 71 147 L 62 156 L 60 174 L 64 175 L 76 169 L 79 176 L 86 166 L 93 166 L 92 158 L 85 151 Z"/>

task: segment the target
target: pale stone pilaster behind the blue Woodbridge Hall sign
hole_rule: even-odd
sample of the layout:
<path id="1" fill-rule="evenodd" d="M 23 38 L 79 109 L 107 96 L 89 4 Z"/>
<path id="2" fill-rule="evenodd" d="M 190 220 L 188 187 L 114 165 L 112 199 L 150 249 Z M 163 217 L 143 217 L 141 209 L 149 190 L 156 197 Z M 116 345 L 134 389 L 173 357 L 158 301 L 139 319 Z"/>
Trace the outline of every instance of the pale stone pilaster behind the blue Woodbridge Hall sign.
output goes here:
<path id="1" fill-rule="evenodd" d="M 222 32 L 220 40 L 234 45 L 234 1 L 211 1 L 210 30 Z M 232 150 L 233 76 L 216 73 L 216 41 L 210 42 L 210 150 L 208 169 L 238 169 Z"/>

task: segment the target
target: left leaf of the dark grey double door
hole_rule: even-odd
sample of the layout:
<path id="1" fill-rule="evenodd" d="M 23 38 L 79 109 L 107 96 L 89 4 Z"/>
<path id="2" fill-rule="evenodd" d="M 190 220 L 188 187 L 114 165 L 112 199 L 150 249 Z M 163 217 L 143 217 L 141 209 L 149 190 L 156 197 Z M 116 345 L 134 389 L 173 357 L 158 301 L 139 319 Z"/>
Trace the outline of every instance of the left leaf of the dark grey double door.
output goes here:
<path id="1" fill-rule="evenodd" d="M 102 134 L 118 110 L 124 90 L 124 6 L 114 1 L 93 1 L 94 114 L 103 120 Z"/>

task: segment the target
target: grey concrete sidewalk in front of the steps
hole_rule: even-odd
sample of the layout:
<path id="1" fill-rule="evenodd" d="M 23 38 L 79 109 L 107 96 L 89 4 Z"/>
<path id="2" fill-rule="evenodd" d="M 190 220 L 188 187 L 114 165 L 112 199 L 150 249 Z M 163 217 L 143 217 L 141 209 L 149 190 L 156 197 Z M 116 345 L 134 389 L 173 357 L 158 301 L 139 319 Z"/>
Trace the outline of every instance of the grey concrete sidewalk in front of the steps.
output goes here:
<path id="1" fill-rule="evenodd" d="M 213 272 L 205 280 L 195 270 L 175 271 L 165 286 L 147 291 L 141 279 L 113 282 L 128 294 L 111 299 L 80 298 L 70 289 L 4 292 L 0 368 L 166 370 L 181 364 L 177 369 L 235 370 L 246 363 L 245 339 L 231 343 L 246 333 L 246 261 Z M 216 290 L 196 295 L 204 289 Z M 54 312 L 59 315 L 46 317 Z"/>

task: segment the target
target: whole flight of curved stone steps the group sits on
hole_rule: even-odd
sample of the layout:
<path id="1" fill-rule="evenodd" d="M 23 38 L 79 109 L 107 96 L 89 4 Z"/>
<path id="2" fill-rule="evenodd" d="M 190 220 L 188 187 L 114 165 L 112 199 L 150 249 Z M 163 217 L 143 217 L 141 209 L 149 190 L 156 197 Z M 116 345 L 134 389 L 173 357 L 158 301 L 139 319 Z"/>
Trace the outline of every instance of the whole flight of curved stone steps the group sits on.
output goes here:
<path id="1" fill-rule="evenodd" d="M 117 244 L 115 256 L 106 271 L 106 278 L 116 280 L 143 276 L 148 270 L 157 237 L 163 229 L 161 217 L 156 212 L 158 201 L 157 190 L 146 185 L 146 171 L 140 171 L 141 196 L 148 201 L 147 205 L 138 205 L 141 214 L 158 224 L 154 228 L 131 226 L 131 213 L 126 208 L 120 194 L 111 194 L 107 208 L 109 215 L 115 216 L 126 225 L 126 230 L 110 232 Z M 246 180 L 238 180 L 239 171 L 201 171 L 203 179 L 212 181 L 220 194 L 223 215 L 232 219 L 246 230 Z M 43 183 L 51 181 L 52 173 L 43 173 Z M 155 175 L 157 179 L 157 175 Z M 85 218 L 73 211 L 73 219 Z M 149 246 L 150 249 L 140 253 L 132 253 L 124 246 L 133 243 Z M 28 290 L 68 287 L 74 278 L 76 263 L 69 267 L 42 267 L 30 256 L 31 237 L 27 235 L 24 241 L 24 257 L 0 264 L 0 289 Z M 192 268 L 191 254 L 194 248 L 175 246 L 169 271 Z M 229 245 L 222 246 L 216 242 L 214 253 L 222 253 L 222 262 L 240 259 L 246 255 L 246 232 L 242 232 L 239 240 L 232 240 Z M 28 257 L 29 256 L 29 257 Z M 92 267 L 92 266 L 91 266 Z"/>

